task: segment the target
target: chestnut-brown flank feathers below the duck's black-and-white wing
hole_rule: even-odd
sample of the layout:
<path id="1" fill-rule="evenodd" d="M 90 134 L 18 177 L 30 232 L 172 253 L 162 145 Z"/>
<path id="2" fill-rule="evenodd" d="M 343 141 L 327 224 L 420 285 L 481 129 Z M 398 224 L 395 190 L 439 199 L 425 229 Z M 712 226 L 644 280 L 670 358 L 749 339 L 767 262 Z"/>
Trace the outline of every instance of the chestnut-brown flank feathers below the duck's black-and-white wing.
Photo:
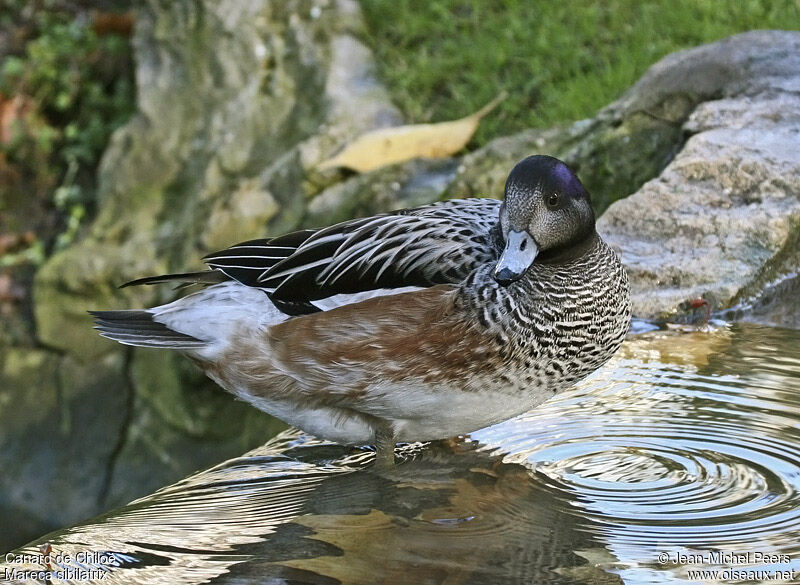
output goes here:
<path id="1" fill-rule="evenodd" d="M 333 406 L 344 396 L 349 410 L 376 415 L 371 409 L 386 403 L 371 393 L 375 384 L 462 383 L 485 368 L 488 349 L 475 323 L 456 310 L 456 292 L 439 285 L 277 323 L 266 336 L 267 367 L 309 397 Z M 278 385 L 264 387 L 272 392 Z"/>

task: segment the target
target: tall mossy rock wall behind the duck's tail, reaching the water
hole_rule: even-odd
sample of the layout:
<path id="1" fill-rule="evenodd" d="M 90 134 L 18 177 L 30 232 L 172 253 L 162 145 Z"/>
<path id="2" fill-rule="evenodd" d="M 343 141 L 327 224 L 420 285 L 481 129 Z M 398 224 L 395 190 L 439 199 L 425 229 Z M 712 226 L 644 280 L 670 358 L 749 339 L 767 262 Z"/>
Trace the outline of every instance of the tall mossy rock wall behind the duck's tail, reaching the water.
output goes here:
<path id="1" fill-rule="evenodd" d="M 88 234 L 36 274 L 35 332 L 46 349 L 30 358 L 11 349 L 0 368 L 0 400 L 42 417 L 9 425 L 17 410 L 0 412 L 5 477 L 13 478 L 0 507 L 9 516 L 38 519 L 29 525 L 39 533 L 73 523 L 283 428 L 179 356 L 104 340 L 86 311 L 170 300 L 169 287 L 117 287 L 200 268 L 207 252 L 296 228 L 311 197 L 339 178 L 314 176 L 317 162 L 362 132 L 402 123 L 362 33 L 351 0 L 139 9 L 138 112 L 103 157 Z M 22 359 L 47 366 L 40 377 L 34 366 L 18 375 Z M 80 399 L 65 402 L 73 394 Z M 58 426 L 65 412 L 69 434 Z"/>

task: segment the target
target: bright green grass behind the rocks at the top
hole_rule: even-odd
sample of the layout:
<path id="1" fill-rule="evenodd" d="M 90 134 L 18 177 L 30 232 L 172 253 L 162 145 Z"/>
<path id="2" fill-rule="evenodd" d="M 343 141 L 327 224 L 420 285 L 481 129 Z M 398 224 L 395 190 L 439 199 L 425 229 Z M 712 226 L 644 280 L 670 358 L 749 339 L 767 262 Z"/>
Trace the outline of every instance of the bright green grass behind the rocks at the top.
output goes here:
<path id="1" fill-rule="evenodd" d="M 753 29 L 800 29 L 797 0 L 361 0 L 367 42 L 409 122 L 472 113 L 472 147 L 594 114 L 664 55 Z"/>

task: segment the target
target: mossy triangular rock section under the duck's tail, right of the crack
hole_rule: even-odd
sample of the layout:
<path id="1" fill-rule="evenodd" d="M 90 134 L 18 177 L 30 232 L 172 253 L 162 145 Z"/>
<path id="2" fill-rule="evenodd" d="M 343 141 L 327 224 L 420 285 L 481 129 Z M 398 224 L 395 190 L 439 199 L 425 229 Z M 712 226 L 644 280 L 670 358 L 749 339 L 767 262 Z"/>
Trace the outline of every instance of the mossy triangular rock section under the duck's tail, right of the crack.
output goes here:
<path id="1" fill-rule="evenodd" d="M 232 400 L 183 356 L 132 353 L 129 417 L 104 508 L 242 453 L 286 428 L 278 419 Z"/>

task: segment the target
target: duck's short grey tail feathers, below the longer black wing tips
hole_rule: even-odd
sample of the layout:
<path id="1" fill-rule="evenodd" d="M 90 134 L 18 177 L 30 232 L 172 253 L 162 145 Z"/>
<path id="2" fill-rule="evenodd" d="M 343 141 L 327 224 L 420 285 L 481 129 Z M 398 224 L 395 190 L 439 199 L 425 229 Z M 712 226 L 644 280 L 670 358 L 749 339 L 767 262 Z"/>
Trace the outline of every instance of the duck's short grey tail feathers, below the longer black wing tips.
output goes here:
<path id="1" fill-rule="evenodd" d="M 206 345 L 186 333 L 170 329 L 159 323 L 151 311 L 89 311 L 95 318 L 95 329 L 100 335 L 125 345 L 162 347 L 168 349 L 199 349 Z"/>

